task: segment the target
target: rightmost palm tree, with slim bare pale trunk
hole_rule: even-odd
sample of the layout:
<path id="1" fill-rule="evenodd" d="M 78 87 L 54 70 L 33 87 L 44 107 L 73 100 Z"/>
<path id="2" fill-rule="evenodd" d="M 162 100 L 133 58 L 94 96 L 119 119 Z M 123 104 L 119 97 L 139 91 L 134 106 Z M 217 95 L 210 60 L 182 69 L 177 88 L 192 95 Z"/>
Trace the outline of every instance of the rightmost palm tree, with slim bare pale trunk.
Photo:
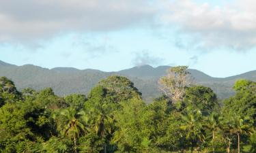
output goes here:
<path id="1" fill-rule="evenodd" d="M 236 114 L 230 118 L 228 124 L 229 132 L 238 137 L 238 153 L 240 153 L 240 137 L 243 134 L 250 134 L 252 131 L 251 124 Z"/>

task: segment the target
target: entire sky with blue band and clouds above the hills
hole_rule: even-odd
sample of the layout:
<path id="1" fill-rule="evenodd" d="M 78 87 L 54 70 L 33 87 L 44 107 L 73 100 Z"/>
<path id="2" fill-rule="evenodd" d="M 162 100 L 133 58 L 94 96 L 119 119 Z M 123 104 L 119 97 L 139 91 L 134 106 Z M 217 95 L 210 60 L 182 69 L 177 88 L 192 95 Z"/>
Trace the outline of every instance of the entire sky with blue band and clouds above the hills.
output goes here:
<path id="1" fill-rule="evenodd" d="M 0 60 L 119 71 L 256 70 L 254 0 L 0 0 Z"/>

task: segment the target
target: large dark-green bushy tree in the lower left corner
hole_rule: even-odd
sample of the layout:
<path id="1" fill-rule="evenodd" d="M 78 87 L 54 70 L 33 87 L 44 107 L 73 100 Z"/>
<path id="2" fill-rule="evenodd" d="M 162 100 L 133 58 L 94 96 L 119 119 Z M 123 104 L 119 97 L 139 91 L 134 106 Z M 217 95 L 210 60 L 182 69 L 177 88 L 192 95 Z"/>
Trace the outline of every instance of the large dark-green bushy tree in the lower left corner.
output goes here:
<path id="1" fill-rule="evenodd" d="M 6 103 L 0 108 L 0 148 L 6 152 L 35 152 L 40 143 L 55 135 L 51 121 L 48 110 L 35 101 Z"/>

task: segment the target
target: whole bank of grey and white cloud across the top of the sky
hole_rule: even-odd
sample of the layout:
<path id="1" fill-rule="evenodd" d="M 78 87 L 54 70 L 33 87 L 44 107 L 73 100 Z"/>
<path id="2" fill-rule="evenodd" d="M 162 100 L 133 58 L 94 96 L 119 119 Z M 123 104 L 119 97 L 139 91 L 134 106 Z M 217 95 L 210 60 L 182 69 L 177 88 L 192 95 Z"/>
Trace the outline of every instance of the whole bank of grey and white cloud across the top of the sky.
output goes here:
<path id="1" fill-rule="evenodd" d="M 0 42 L 158 25 L 153 29 L 177 28 L 177 35 L 190 38 L 189 46 L 248 50 L 256 45 L 255 7 L 254 0 L 221 6 L 193 0 L 0 0 Z"/>

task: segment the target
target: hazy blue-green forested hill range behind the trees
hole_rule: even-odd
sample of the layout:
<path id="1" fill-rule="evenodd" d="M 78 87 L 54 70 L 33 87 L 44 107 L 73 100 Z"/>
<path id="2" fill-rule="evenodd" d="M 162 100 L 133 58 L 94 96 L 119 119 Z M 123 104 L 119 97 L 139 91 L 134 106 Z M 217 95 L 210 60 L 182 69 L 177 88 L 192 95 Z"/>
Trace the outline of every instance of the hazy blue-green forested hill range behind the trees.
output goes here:
<path id="1" fill-rule="evenodd" d="M 31 87 L 35 90 L 51 87 L 57 95 L 69 95 L 71 93 L 87 94 L 100 80 L 109 75 L 124 75 L 128 77 L 134 86 L 143 94 L 146 101 L 160 94 L 157 81 L 160 76 L 165 75 L 168 66 L 151 67 L 143 65 L 124 69 L 117 72 L 104 72 L 95 69 L 79 70 L 68 67 L 57 67 L 45 69 L 34 65 L 16 66 L 0 61 L 0 76 L 12 79 L 18 90 Z M 233 83 L 244 78 L 256 81 L 256 71 L 250 71 L 229 78 L 212 78 L 209 75 L 195 69 L 189 69 L 197 84 L 208 86 L 216 92 L 219 98 L 233 95 Z"/>

